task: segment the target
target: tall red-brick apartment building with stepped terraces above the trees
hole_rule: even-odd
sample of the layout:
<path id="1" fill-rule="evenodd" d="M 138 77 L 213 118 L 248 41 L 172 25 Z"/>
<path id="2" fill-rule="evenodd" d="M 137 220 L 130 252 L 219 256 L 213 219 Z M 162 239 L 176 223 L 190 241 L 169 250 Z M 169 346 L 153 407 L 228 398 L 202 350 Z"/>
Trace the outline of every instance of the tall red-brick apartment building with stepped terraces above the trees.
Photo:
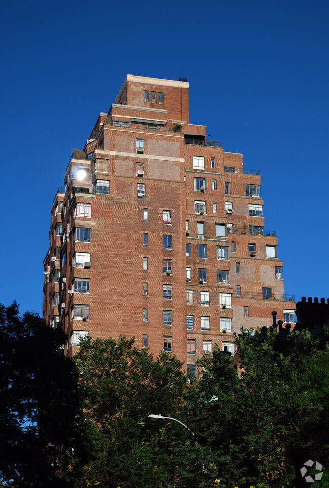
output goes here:
<path id="1" fill-rule="evenodd" d="M 211 143 L 210 143 L 211 144 Z M 79 337 L 136 337 L 194 369 L 233 331 L 295 321 L 261 177 L 189 123 L 185 79 L 127 76 L 51 209 L 44 319 Z M 274 302 L 275 300 L 275 302 Z"/>

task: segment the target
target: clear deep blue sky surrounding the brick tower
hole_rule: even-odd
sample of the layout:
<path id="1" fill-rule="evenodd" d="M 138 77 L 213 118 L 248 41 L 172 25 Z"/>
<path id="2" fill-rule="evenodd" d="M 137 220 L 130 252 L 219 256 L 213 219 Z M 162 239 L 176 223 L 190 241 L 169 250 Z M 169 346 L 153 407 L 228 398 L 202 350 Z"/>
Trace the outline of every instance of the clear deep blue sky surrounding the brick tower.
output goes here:
<path id="1" fill-rule="evenodd" d="M 260 169 L 285 290 L 329 297 L 329 4 L 41 2 L 2 7 L 0 302 L 42 310 L 50 206 L 126 74 L 187 77 L 190 121 Z"/>

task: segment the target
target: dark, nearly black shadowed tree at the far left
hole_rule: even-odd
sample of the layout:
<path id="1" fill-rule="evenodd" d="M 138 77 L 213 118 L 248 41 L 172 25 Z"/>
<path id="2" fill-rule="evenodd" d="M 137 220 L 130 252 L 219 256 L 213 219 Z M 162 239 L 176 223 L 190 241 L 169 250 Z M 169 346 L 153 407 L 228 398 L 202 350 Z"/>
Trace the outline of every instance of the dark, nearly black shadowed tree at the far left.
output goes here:
<path id="1" fill-rule="evenodd" d="M 66 336 L 36 314 L 0 305 L 0 480 L 4 486 L 67 486 L 56 476 L 82 459 L 83 418 Z"/>

